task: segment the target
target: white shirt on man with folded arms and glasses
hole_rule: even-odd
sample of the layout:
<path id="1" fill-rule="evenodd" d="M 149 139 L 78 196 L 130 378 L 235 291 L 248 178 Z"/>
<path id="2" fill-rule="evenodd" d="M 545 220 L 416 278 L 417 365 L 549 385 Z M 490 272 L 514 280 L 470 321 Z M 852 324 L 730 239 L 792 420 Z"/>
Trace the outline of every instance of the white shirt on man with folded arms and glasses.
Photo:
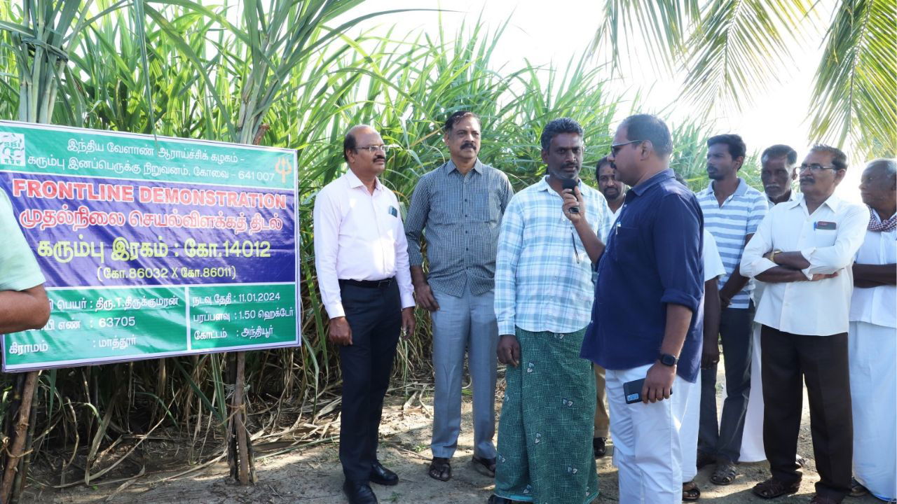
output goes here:
<path id="1" fill-rule="evenodd" d="M 814 274 L 837 272 L 838 276 L 767 284 L 754 321 L 793 335 L 846 333 L 853 292 L 850 266 L 868 223 L 866 205 L 838 196 L 830 196 L 813 214 L 807 212 L 803 196 L 772 207 L 745 247 L 741 274 L 753 278 L 776 266 L 763 255 L 779 249 L 799 251 L 809 261 L 810 266 L 802 270 L 807 279 Z"/>

